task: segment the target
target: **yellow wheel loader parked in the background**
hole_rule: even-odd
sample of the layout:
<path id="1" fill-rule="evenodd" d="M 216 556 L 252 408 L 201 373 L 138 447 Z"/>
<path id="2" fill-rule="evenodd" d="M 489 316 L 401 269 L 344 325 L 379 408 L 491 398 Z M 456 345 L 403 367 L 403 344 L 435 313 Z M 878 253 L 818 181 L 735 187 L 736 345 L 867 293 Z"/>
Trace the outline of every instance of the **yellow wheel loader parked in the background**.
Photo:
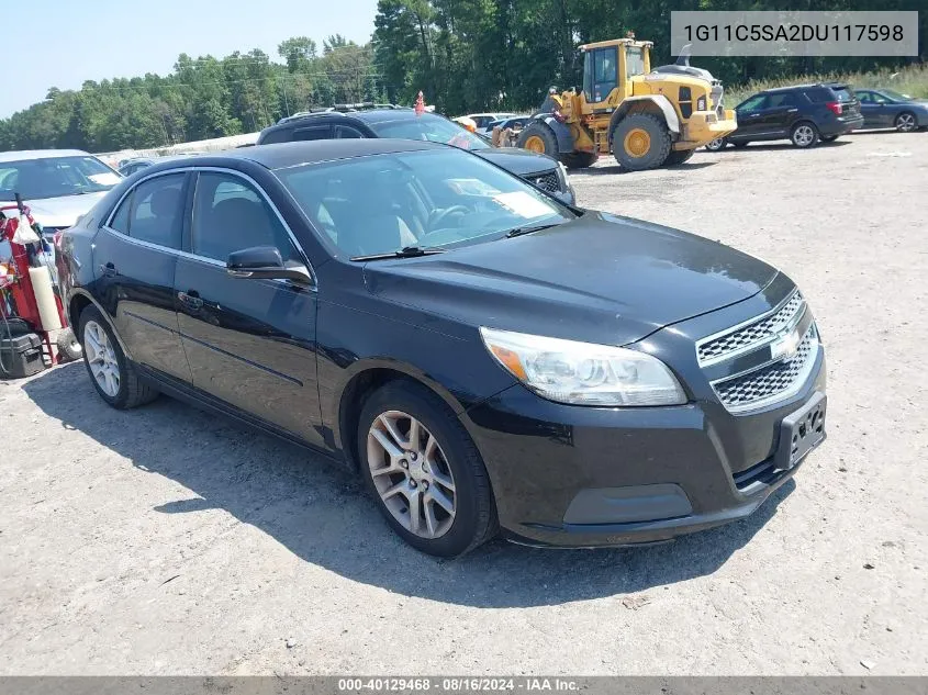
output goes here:
<path id="1" fill-rule="evenodd" d="M 580 46 L 583 88 L 551 88 L 518 146 L 550 155 L 568 168 L 612 153 L 631 171 L 686 161 L 697 147 L 737 127 L 722 82 L 690 66 L 689 46 L 674 65 L 651 70 L 649 41 L 616 38 Z"/>

